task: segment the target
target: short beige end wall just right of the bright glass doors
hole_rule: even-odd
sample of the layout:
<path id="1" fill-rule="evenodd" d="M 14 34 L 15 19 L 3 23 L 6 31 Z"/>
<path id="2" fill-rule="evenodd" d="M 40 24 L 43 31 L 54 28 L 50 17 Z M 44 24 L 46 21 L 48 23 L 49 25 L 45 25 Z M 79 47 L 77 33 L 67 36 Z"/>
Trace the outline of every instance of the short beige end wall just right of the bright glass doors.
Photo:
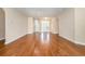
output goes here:
<path id="1" fill-rule="evenodd" d="M 51 33 L 58 34 L 58 18 L 53 17 L 51 21 Z"/>

